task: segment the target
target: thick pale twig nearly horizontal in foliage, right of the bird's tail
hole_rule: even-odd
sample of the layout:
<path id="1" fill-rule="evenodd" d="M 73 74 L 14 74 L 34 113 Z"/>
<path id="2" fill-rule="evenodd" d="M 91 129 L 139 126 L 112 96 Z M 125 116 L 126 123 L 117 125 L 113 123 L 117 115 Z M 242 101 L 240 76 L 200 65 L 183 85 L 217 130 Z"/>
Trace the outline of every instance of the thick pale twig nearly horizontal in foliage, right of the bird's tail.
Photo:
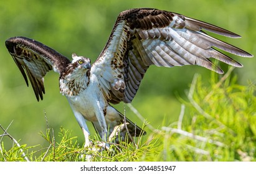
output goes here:
<path id="1" fill-rule="evenodd" d="M 190 137 L 191 139 L 199 140 L 199 141 L 202 141 L 202 142 L 208 142 L 210 144 L 215 144 L 215 145 L 220 146 L 220 147 L 225 146 L 225 144 L 223 144 L 222 142 L 212 140 L 212 139 L 207 139 L 207 138 L 201 137 L 199 135 L 194 135 L 190 132 L 183 131 L 181 129 L 175 129 L 175 128 L 171 128 L 171 127 L 162 127 L 162 130 L 170 131 L 170 132 L 177 133 L 177 134 L 181 134 L 181 135 L 184 135 L 186 137 Z"/>

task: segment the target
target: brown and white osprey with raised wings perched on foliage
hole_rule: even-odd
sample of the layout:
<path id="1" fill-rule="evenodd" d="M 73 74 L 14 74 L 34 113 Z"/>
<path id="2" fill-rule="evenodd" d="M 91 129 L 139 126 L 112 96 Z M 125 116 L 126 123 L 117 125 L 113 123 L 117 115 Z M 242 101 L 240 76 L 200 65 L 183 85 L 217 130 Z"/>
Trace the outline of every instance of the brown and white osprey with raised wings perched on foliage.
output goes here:
<path id="1" fill-rule="evenodd" d="M 38 101 L 45 93 L 47 71 L 59 73 L 60 93 L 69 101 L 85 135 L 85 147 L 88 147 L 90 132 L 85 121 L 92 122 L 102 141 L 107 142 L 108 132 L 125 122 L 125 117 L 110 104 L 131 103 L 150 65 L 199 65 L 224 73 L 209 58 L 236 67 L 242 65 L 215 48 L 241 57 L 253 57 L 211 37 L 204 30 L 225 37 L 240 37 L 216 25 L 174 12 L 130 9 L 118 15 L 107 44 L 93 64 L 89 58 L 75 53 L 69 60 L 26 37 L 11 37 L 6 40 L 6 47 L 27 85 L 29 77 Z M 126 122 L 126 129 L 120 131 L 121 140 L 127 132 L 131 136 L 145 134 L 130 120 Z"/>

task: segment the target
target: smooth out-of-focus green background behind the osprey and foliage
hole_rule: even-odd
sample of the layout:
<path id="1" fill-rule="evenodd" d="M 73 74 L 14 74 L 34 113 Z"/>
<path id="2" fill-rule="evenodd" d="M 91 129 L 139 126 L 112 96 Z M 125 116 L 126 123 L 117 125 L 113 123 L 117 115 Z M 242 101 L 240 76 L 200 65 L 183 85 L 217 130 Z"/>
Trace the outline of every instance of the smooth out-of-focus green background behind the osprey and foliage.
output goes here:
<path id="1" fill-rule="evenodd" d="M 24 36 L 54 48 L 67 57 L 73 52 L 92 59 L 98 57 L 108 40 L 119 12 L 135 7 L 151 7 L 178 12 L 192 18 L 218 25 L 242 36 L 242 39 L 219 37 L 247 52 L 256 55 L 256 2 L 255 0 L 147 0 L 147 1 L 18 1 L 0 3 L 0 124 L 21 144 L 47 143 L 39 132 L 47 129 L 45 113 L 50 127 L 57 134 L 59 127 L 73 131 L 83 144 L 83 134 L 73 116 L 67 99 L 59 93 L 58 74 L 45 76 L 44 100 L 39 103 L 17 66 L 6 50 L 4 42 L 9 37 Z M 235 57 L 244 65 L 236 68 L 239 83 L 247 85 L 255 81 L 255 58 Z M 220 64 L 224 71 L 227 66 Z M 149 68 L 133 100 L 133 106 L 155 128 L 176 121 L 180 112 L 178 96 L 186 99 L 186 89 L 194 73 L 209 80 L 210 71 L 199 66 L 174 68 Z M 29 84 L 30 85 L 30 84 Z M 123 103 L 115 106 L 124 111 Z M 138 125 L 143 122 L 125 107 L 126 115 Z M 91 126 L 90 123 L 88 123 Z M 90 127 L 93 130 L 93 127 Z M 146 130 L 148 131 L 148 130 Z M 1 134 L 1 132 L 0 132 Z M 93 131 L 92 131 L 93 134 Z M 57 137 L 57 135 L 55 136 Z"/>

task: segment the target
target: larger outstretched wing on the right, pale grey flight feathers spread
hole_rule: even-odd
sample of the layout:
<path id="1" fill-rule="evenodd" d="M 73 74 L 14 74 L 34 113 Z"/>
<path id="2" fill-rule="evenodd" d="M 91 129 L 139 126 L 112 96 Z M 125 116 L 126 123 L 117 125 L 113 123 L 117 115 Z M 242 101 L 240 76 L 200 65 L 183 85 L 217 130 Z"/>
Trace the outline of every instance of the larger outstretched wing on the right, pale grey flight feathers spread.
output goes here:
<path id="1" fill-rule="evenodd" d="M 242 57 L 252 57 L 240 48 L 215 39 L 202 29 L 226 37 L 240 37 L 206 22 L 157 9 L 121 12 L 107 45 L 92 66 L 103 94 L 111 103 L 130 103 L 149 65 L 204 66 L 217 73 L 216 58 L 232 66 L 242 65 L 213 47 Z"/>

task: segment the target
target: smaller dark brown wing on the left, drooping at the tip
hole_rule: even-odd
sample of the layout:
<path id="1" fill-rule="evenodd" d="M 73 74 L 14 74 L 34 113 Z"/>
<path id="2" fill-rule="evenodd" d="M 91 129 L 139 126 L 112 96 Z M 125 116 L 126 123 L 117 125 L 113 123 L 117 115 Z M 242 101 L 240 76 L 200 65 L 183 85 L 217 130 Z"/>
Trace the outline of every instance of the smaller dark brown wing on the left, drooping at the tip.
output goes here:
<path id="1" fill-rule="evenodd" d="M 21 71 L 27 86 L 29 86 L 27 76 L 29 77 L 37 101 L 39 101 L 39 97 L 43 99 L 43 93 L 45 93 L 44 76 L 47 71 L 54 69 L 61 75 L 70 63 L 68 58 L 52 48 L 26 37 L 8 39 L 6 40 L 6 47 Z"/>

